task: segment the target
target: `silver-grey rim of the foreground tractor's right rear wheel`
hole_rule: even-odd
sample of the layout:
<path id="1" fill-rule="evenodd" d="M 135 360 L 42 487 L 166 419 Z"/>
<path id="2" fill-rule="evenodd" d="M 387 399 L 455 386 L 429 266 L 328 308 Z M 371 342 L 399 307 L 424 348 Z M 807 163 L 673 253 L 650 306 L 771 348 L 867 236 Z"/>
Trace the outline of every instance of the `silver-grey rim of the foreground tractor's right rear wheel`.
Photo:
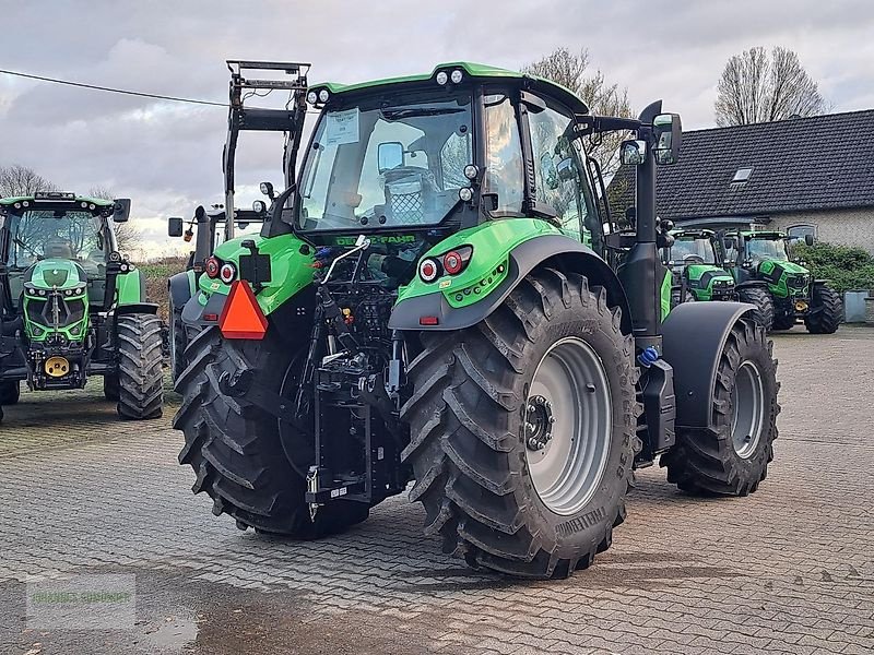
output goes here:
<path id="1" fill-rule="evenodd" d="M 578 512 L 607 465 L 613 403 L 601 358 L 584 341 L 553 344 L 525 403 L 525 461 L 534 490 L 556 514 Z"/>

